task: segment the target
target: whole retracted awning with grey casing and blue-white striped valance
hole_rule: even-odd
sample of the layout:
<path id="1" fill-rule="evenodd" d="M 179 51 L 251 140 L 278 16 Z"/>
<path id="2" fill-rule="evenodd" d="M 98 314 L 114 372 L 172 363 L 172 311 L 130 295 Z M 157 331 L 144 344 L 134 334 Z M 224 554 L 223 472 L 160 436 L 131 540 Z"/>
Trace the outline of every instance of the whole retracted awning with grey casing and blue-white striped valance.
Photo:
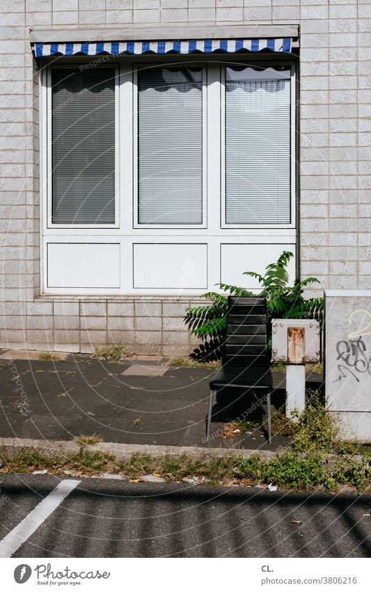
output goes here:
<path id="1" fill-rule="evenodd" d="M 35 57 L 143 54 L 290 53 L 298 26 L 205 26 L 198 29 L 51 29 L 31 31 Z M 154 38 L 155 37 L 155 38 Z M 87 40 L 88 39 L 88 40 Z"/>

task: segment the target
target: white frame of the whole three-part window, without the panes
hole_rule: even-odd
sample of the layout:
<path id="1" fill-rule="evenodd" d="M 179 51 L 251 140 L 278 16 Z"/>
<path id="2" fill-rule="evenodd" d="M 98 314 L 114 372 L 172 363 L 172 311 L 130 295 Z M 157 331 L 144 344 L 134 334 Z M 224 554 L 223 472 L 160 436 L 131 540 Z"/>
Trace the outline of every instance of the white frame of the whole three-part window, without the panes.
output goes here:
<path id="1" fill-rule="evenodd" d="M 216 58 L 216 56 L 215 56 Z M 134 288 L 133 244 L 134 243 L 172 243 L 207 244 L 207 290 L 215 289 L 215 284 L 221 281 L 221 244 L 266 244 L 276 245 L 297 244 L 297 199 L 295 195 L 296 155 L 295 155 L 295 65 L 289 61 L 267 60 L 262 62 L 263 68 L 274 67 L 275 63 L 291 66 L 292 72 L 292 223 L 290 225 L 235 225 L 222 224 L 225 215 L 223 203 L 223 165 L 224 145 L 224 91 L 222 73 L 226 66 L 233 63 L 250 66 L 250 61 L 241 59 L 227 59 L 225 62 L 215 59 L 205 61 L 205 56 L 194 56 L 192 63 L 200 64 L 205 69 L 203 73 L 203 225 L 134 225 L 134 215 L 138 215 L 137 204 L 137 174 L 136 174 L 136 123 L 137 123 L 137 84 L 134 82 L 136 70 L 147 61 L 141 62 L 137 58 L 112 59 L 100 68 L 106 66 L 116 69 L 116 223 L 115 225 L 52 225 L 48 222 L 51 211 L 51 164 L 50 152 L 51 126 L 51 85 L 50 68 L 79 68 L 87 63 L 84 60 L 68 58 L 58 60 L 58 65 L 48 65 L 42 61 L 40 70 L 40 234 L 42 245 L 41 258 L 41 291 L 51 296 L 200 296 L 205 289 L 176 289 Z M 67 62 L 67 63 L 66 63 Z M 174 60 L 164 56 L 164 60 L 150 65 L 172 66 L 182 63 L 181 58 Z M 188 62 L 189 63 L 189 62 Z M 184 63 L 187 66 L 187 62 Z M 205 108 L 207 107 L 207 112 Z M 207 175 L 208 174 L 208 175 Z M 133 208 L 132 212 L 129 208 Z M 241 228 L 241 230 L 239 230 Z M 207 230 L 206 230 L 207 229 Z M 49 288 L 47 287 L 47 245 L 48 243 L 120 243 L 120 288 Z"/>

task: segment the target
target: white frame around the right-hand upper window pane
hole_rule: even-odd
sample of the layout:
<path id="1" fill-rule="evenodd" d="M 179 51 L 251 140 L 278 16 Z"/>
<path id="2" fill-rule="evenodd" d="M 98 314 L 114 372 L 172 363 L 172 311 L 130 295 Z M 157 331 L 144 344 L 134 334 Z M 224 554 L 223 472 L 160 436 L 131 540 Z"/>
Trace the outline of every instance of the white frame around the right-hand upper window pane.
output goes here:
<path id="1" fill-rule="evenodd" d="M 232 63 L 221 64 L 221 228 L 295 228 L 297 188 L 296 188 L 296 102 L 295 89 L 296 78 L 293 63 L 281 62 L 280 66 L 290 66 L 290 224 L 285 222 L 275 224 L 228 224 L 226 222 L 226 68 Z M 246 67 L 250 66 L 246 64 Z M 274 67 L 273 65 L 270 67 Z M 266 66 L 269 68 L 269 66 Z"/>

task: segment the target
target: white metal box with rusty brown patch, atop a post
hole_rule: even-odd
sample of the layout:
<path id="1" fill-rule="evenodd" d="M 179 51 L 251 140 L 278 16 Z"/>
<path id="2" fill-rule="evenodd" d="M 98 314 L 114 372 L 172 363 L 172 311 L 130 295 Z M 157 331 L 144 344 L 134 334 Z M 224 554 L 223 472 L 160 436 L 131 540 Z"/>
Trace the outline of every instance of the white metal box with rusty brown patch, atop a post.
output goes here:
<path id="1" fill-rule="evenodd" d="M 272 319 L 272 362 L 321 361 L 321 326 L 314 319 Z"/>

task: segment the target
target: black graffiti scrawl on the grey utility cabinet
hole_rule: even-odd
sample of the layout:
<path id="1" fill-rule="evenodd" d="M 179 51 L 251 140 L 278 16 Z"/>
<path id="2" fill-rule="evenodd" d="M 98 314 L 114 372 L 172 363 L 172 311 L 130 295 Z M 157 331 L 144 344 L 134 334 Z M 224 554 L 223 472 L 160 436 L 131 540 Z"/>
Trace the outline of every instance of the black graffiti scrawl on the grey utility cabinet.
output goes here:
<path id="1" fill-rule="evenodd" d="M 350 317 L 349 317 L 350 318 Z M 341 381 L 347 377 L 344 371 L 347 370 L 349 374 L 359 382 L 356 372 L 363 374 L 367 372 L 371 376 L 371 357 L 368 357 L 365 342 L 362 335 L 358 339 L 340 340 L 336 344 L 336 360 L 341 360 L 338 363 L 339 376 L 333 382 Z"/>

